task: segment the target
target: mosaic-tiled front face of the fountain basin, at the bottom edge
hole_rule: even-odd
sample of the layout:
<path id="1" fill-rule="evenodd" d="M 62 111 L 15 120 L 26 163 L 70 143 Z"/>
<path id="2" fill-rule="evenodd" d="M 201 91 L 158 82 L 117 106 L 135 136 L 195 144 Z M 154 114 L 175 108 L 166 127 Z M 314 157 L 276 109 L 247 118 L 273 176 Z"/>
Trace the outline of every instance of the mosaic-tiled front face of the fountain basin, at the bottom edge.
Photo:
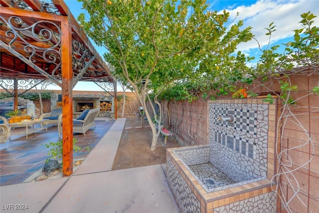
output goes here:
<path id="1" fill-rule="evenodd" d="M 276 213 L 276 195 L 274 192 L 259 195 L 243 201 L 214 208 L 214 213 Z"/>

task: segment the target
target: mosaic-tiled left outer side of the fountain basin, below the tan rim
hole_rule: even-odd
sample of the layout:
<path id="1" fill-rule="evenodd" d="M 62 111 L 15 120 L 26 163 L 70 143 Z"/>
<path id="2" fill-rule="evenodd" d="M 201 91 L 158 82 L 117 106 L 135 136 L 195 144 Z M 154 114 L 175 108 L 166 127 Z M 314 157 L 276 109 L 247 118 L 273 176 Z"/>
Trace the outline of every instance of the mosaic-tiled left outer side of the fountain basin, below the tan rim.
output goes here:
<path id="1" fill-rule="evenodd" d="M 172 161 L 167 158 L 167 183 L 182 213 L 200 213 L 200 202 L 182 178 Z"/>

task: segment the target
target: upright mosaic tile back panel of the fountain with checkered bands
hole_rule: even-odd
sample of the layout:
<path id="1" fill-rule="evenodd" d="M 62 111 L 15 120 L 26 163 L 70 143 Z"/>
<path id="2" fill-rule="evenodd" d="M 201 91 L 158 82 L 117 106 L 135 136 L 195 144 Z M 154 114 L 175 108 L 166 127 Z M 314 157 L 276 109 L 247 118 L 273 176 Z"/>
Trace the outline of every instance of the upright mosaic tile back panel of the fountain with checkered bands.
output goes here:
<path id="1" fill-rule="evenodd" d="M 208 103 L 209 161 L 235 182 L 267 177 L 269 104 Z M 219 121 L 232 115 L 234 122 Z"/>

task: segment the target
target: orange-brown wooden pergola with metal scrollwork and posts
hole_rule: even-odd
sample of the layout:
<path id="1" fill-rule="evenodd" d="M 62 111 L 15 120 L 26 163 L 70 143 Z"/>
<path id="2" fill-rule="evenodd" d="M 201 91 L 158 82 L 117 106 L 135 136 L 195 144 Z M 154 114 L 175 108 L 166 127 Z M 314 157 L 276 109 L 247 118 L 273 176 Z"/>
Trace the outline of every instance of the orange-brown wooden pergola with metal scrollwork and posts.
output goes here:
<path id="1" fill-rule="evenodd" d="M 92 81 L 107 92 L 111 88 L 115 115 L 117 98 L 115 78 L 63 0 L 0 0 L 0 74 L 1 83 L 15 82 L 14 89 L 18 79 L 49 79 L 62 88 L 63 175 L 70 176 L 73 87 Z"/>

